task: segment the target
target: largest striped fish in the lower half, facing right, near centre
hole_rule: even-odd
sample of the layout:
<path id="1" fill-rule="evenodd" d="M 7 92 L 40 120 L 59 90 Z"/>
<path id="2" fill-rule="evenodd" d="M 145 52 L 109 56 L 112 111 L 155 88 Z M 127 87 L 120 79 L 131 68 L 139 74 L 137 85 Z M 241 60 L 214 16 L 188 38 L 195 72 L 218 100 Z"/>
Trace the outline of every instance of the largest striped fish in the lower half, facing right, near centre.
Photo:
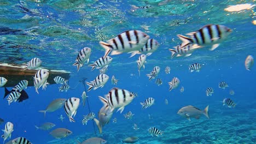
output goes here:
<path id="1" fill-rule="evenodd" d="M 106 99 L 101 96 L 99 96 L 99 98 L 104 105 L 108 105 L 111 107 L 111 112 L 114 111 L 114 109 L 119 108 L 118 111 L 122 113 L 125 106 L 131 103 L 134 95 L 126 89 L 114 87 L 110 89 L 110 91 L 106 95 Z"/>

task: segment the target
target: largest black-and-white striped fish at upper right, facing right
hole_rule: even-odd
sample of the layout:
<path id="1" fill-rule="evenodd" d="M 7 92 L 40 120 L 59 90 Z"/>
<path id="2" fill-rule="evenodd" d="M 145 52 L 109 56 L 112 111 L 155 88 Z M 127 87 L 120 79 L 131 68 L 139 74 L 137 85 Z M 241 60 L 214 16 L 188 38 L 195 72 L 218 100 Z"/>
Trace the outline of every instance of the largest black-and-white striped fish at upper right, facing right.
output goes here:
<path id="1" fill-rule="evenodd" d="M 197 44 L 200 46 L 212 45 L 211 51 L 215 50 L 219 43 L 228 37 L 232 30 L 223 25 L 206 25 L 195 32 L 188 33 L 191 38 L 178 34 L 178 38 L 182 40 L 181 47 L 188 44 Z"/>

